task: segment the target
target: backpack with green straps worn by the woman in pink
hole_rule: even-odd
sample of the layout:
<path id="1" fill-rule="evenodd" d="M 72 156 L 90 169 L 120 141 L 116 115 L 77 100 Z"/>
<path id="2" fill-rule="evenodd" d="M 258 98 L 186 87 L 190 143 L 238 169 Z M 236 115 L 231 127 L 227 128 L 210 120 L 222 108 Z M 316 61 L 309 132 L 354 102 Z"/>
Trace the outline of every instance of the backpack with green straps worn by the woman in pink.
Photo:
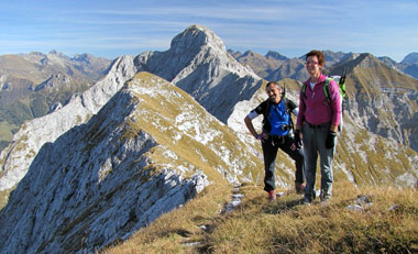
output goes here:
<path id="1" fill-rule="evenodd" d="M 331 80 L 334 80 L 340 88 L 341 119 L 340 119 L 340 124 L 338 125 L 339 131 L 342 131 L 342 117 L 344 115 L 344 108 L 345 108 L 345 103 L 346 103 L 345 102 L 345 100 L 346 100 L 345 79 L 346 79 L 348 71 L 349 71 L 349 69 L 344 68 L 341 76 L 336 75 L 336 76 L 327 77 L 326 80 L 323 81 L 323 86 L 322 86 L 323 95 L 326 96 L 328 103 L 331 103 L 331 98 L 329 97 L 329 93 L 330 93 L 329 87 L 330 87 Z M 304 85 L 301 86 L 301 92 L 302 92 L 304 99 L 306 99 L 305 91 L 306 91 L 306 84 L 304 82 Z"/>

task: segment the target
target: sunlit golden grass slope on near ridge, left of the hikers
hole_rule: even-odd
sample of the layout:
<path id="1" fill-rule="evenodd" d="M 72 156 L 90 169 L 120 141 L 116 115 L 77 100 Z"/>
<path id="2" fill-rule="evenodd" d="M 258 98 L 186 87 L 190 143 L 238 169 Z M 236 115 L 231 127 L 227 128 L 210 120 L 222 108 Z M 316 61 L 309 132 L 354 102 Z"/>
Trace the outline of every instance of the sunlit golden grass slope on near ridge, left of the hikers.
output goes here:
<path id="1" fill-rule="evenodd" d="M 160 78 L 147 73 L 140 73 L 133 78 L 132 82 L 141 82 L 138 85 L 141 89 L 152 90 L 152 87 L 155 86 L 155 79 Z M 169 86 L 168 90 L 173 90 L 169 100 L 164 98 L 163 95 L 157 93 L 154 93 L 152 97 L 150 95 L 135 95 L 141 102 L 140 108 L 136 109 L 135 122 L 130 122 L 133 134 L 144 128 L 160 144 L 164 145 L 150 152 L 148 156 L 153 161 L 158 162 L 161 165 L 169 165 L 174 161 L 186 167 L 194 165 L 194 167 L 205 170 L 210 180 L 224 183 L 224 179 L 216 168 L 222 167 L 227 172 L 230 168 L 229 165 L 220 159 L 215 151 L 227 150 L 224 154 L 230 153 L 229 157 L 231 161 L 238 161 L 235 163 L 239 163 L 244 168 L 243 174 L 245 176 L 261 174 L 257 170 L 261 168 L 261 164 L 260 162 L 257 163 L 255 155 L 241 150 L 244 144 L 235 139 L 228 126 L 209 115 L 195 100 L 185 100 L 185 98 L 189 98 L 189 95 L 182 89 L 169 84 L 166 86 Z M 162 87 L 161 89 L 166 88 Z M 167 93 L 164 95 L 166 96 Z M 173 123 L 180 117 L 183 110 L 186 113 L 190 110 L 193 113 L 193 119 L 188 121 L 205 122 L 205 128 L 201 126 L 202 129 L 199 129 L 200 132 L 216 131 L 218 134 L 215 134 L 213 140 L 208 141 L 204 145 L 194 140 L 194 136 L 205 133 L 196 133 L 194 128 L 184 131 L 177 130 Z M 178 137 L 176 136 L 179 133 L 182 133 L 182 137 L 177 140 Z M 164 154 L 165 147 L 174 151 L 178 159 L 167 157 Z M 245 161 L 244 158 L 248 159 Z"/>

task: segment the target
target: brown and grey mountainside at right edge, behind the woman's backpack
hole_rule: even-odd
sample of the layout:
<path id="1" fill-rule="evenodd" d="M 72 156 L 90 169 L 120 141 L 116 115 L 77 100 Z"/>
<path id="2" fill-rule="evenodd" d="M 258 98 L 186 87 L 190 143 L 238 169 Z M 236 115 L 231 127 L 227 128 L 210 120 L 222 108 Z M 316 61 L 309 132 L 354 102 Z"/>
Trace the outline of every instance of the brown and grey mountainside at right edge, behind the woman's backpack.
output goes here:
<path id="1" fill-rule="evenodd" d="M 346 113 L 354 122 L 381 136 L 418 151 L 418 80 L 396 71 L 371 54 L 362 54 L 331 74 L 348 67 Z"/>

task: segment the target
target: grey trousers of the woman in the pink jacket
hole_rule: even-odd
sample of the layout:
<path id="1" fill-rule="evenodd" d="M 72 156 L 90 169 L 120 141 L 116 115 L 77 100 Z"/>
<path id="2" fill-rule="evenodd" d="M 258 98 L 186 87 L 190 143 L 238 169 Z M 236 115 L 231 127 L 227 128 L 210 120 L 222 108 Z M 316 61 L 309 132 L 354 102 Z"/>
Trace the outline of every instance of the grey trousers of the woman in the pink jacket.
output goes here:
<path id="1" fill-rule="evenodd" d="M 336 152 L 336 146 L 330 150 L 326 148 L 326 140 L 329 130 L 330 124 L 310 126 L 308 123 L 305 123 L 302 128 L 306 177 L 305 198 L 308 198 L 310 201 L 312 201 L 316 197 L 315 183 L 317 177 L 318 154 L 321 169 L 320 197 L 328 199 L 332 195 L 332 159 Z"/>

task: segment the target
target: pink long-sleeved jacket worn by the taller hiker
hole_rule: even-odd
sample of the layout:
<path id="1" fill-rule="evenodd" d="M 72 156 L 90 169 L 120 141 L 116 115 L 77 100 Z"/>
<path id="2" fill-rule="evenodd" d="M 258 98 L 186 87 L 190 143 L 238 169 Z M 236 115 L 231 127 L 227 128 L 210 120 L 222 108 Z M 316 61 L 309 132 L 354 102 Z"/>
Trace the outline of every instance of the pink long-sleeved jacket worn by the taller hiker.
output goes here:
<path id="1" fill-rule="evenodd" d="M 329 86 L 329 97 L 331 103 L 327 101 L 326 96 L 323 95 L 323 80 L 326 76 L 321 74 L 318 79 L 318 82 L 315 85 L 314 90 L 310 88 L 310 78 L 305 81 L 306 90 L 305 98 L 299 91 L 299 113 L 297 115 L 296 125 L 301 126 L 305 121 L 310 124 L 322 124 L 331 123 L 338 125 L 341 118 L 341 97 L 340 88 L 338 84 L 331 80 Z"/>

